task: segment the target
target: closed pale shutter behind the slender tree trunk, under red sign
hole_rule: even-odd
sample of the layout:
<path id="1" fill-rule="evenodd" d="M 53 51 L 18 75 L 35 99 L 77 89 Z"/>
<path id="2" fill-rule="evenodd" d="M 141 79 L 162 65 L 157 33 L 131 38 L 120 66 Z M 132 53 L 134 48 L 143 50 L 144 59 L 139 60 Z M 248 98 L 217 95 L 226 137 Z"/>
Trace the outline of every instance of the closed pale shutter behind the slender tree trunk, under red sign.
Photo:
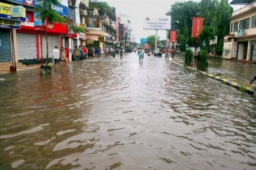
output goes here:
<path id="1" fill-rule="evenodd" d="M 48 57 L 52 58 L 52 52 L 56 45 L 58 46 L 58 49 L 60 50 L 60 46 L 61 46 L 60 36 L 48 35 L 47 40 L 48 40 L 48 55 L 49 55 Z M 43 58 L 46 58 L 47 44 L 46 44 L 45 35 L 42 35 L 42 46 L 43 46 Z M 40 58 L 41 58 L 41 44 L 39 44 L 39 53 L 40 53 Z"/>

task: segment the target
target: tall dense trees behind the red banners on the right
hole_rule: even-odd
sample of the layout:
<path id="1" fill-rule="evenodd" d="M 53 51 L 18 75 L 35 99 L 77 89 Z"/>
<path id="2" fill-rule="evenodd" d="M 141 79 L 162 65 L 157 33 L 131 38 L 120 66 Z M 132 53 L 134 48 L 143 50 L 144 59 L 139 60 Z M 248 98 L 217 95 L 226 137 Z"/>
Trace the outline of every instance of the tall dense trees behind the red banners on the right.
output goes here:
<path id="1" fill-rule="evenodd" d="M 172 16 L 172 30 L 177 30 L 177 41 L 181 50 L 185 51 L 186 45 L 195 45 L 191 34 L 192 18 L 196 17 L 197 12 L 199 12 L 200 17 L 204 18 L 204 26 L 212 27 L 215 36 L 218 36 L 216 51 L 221 53 L 224 35 L 229 33 L 230 21 L 228 18 L 233 12 L 228 0 L 202 0 L 199 3 L 192 1 L 176 2 L 171 6 L 171 10 L 166 15 Z M 168 37 L 170 37 L 170 31 Z M 209 48 L 210 46 L 207 46 L 207 49 Z"/>

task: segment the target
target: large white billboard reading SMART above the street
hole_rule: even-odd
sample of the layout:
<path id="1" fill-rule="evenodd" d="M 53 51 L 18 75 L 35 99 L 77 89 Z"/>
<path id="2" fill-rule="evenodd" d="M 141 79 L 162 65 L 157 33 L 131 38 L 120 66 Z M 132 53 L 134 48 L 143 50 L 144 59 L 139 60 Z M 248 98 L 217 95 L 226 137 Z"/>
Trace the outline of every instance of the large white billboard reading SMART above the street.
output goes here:
<path id="1" fill-rule="evenodd" d="M 171 30 L 171 16 L 147 17 L 144 19 L 143 29 L 145 30 Z"/>

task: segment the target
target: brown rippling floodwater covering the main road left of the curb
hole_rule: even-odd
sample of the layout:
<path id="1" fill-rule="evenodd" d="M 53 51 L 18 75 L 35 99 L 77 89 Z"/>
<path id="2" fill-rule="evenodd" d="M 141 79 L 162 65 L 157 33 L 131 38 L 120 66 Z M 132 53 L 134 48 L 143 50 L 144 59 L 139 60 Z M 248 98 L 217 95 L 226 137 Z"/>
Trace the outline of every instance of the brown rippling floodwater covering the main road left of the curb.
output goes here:
<path id="1" fill-rule="evenodd" d="M 255 98 L 164 57 L 0 78 L 0 169 L 256 169 Z"/>

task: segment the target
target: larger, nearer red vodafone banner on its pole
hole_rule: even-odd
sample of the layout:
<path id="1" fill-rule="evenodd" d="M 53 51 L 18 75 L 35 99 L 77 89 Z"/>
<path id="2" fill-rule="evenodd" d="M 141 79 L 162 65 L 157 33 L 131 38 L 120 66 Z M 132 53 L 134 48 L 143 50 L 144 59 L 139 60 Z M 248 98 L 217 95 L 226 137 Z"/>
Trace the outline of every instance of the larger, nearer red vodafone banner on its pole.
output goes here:
<path id="1" fill-rule="evenodd" d="M 199 38 L 199 34 L 201 33 L 203 28 L 203 18 L 195 17 L 192 22 L 192 38 L 195 38 L 195 51 L 194 51 L 194 67 L 196 67 L 196 59 L 197 59 L 197 42 Z"/>

